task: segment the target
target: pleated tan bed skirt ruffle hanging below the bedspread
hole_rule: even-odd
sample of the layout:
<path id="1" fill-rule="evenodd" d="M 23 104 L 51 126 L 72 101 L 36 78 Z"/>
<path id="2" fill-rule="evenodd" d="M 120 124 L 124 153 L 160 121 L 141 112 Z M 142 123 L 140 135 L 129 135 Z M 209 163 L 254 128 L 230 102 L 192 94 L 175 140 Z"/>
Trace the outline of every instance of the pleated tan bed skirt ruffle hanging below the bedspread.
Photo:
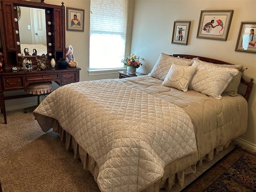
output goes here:
<path id="1" fill-rule="evenodd" d="M 52 125 L 53 131 L 59 134 L 60 140 L 66 142 L 66 150 L 72 149 L 74 151 L 74 158 L 80 158 L 83 168 L 85 170 L 89 170 L 94 176 L 94 180 L 97 182 L 97 177 L 99 174 L 97 162 L 95 162 L 94 159 L 78 145 L 78 143 L 68 132 L 61 128 L 57 120 L 48 117 L 48 121 Z M 196 166 L 200 166 L 203 160 L 212 160 L 214 153 L 218 153 L 224 148 L 228 147 L 230 142 L 227 142 L 225 146 L 218 146 L 200 159 L 198 158 L 199 152 L 195 152 L 170 162 L 165 166 L 164 175 L 162 178 L 150 184 L 141 192 L 159 192 L 160 188 L 170 190 L 176 183 L 183 188 L 185 174 L 195 173 Z"/>

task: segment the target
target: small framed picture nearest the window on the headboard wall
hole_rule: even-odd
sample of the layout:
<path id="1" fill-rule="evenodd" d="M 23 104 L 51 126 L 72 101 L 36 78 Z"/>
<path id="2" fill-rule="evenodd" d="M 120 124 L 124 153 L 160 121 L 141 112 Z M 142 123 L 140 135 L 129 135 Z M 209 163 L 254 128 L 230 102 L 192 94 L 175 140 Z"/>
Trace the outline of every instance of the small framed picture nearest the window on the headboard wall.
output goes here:
<path id="1" fill-rule="evenodd" d="M 188 34 L 191 21 L 174 21 L 172 43 L 173 44 L 188 44 Z"/>

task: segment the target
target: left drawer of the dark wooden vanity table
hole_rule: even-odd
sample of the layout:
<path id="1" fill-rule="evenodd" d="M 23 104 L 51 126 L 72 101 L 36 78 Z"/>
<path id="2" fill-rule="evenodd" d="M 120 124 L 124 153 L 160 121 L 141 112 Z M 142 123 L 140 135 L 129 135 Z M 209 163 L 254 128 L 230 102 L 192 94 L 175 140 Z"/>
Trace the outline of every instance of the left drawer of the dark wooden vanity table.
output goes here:
<path id="1" fill-rule="evenodd" d="M 20 90 L 24 89 L 23 75 L 3 76 L 4 90 Z"/>

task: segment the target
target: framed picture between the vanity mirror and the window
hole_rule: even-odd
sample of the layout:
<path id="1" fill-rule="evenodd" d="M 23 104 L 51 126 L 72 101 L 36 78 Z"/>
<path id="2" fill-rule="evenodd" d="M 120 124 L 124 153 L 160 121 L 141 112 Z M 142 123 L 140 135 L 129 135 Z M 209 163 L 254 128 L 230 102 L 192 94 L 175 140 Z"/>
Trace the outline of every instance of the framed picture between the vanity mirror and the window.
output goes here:
<path id="1" fill-rule="evenodd" d="M 84 10 L 67 7 L 67 30 L 84 31 Z"/>

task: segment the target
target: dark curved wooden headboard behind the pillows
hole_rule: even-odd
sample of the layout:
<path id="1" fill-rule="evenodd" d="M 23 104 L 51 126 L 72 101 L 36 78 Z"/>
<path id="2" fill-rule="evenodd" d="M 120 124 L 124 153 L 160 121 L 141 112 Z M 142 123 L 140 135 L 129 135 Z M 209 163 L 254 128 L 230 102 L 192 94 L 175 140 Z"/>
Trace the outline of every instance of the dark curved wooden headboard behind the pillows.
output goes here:
<path id="1" fill-rule="evenodd" d="M 206 58 L 206 57 L 201 57 L 201 56 L 183 55 L 183 54 L 173 54 L 172 56 L 174 56 L 174 57 L 178 57 L 179 56 L 180 58 L 186 58 L 186 59 L 198 58 L 201 61 L 210 62 L 210 63 L 214 63 L 214 64 L 234 65 L 234 64 L 227 63 L 227 62 L 224 62 L 224 61 L 220 61 L 220 60 L 216 60 L 216 59 L 211 59 L 211 58 Z M 252 86 L 254 84 L 253 80 L 254 79 L 250 79 L 250 82 L 248 82 L 248 81 L 244 80 L 243 77 L 241 77 L 241 83 L 246 85 L 245 94 L 242 95 L 242 96 L 244 96 L 244 98 L 247 100 L 247 102 L 248 102 L 248 100 L 250 98 L 250 94 L 252 92 Z"/>

